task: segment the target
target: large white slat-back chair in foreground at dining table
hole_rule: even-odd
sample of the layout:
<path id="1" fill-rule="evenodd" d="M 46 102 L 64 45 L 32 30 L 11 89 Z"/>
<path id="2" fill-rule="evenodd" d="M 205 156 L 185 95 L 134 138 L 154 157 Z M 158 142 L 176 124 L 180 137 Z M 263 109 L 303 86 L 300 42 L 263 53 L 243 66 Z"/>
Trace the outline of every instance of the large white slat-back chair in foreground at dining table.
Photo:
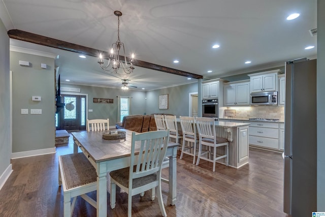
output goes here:
<path id="1" fill-rule="evenodd" d="M 110 172 L 112 209 L 116 203 L 116 185 L 128 194 L 127 216 L 132 215 L 132 196 L 155 188 L 161 214 L 167 216 L 161 195 L 160 178 L 168 140 L 168 130 L 132 133 L 130 166 Z M 153 195 L 151 200 L 154 198 Z"/>

